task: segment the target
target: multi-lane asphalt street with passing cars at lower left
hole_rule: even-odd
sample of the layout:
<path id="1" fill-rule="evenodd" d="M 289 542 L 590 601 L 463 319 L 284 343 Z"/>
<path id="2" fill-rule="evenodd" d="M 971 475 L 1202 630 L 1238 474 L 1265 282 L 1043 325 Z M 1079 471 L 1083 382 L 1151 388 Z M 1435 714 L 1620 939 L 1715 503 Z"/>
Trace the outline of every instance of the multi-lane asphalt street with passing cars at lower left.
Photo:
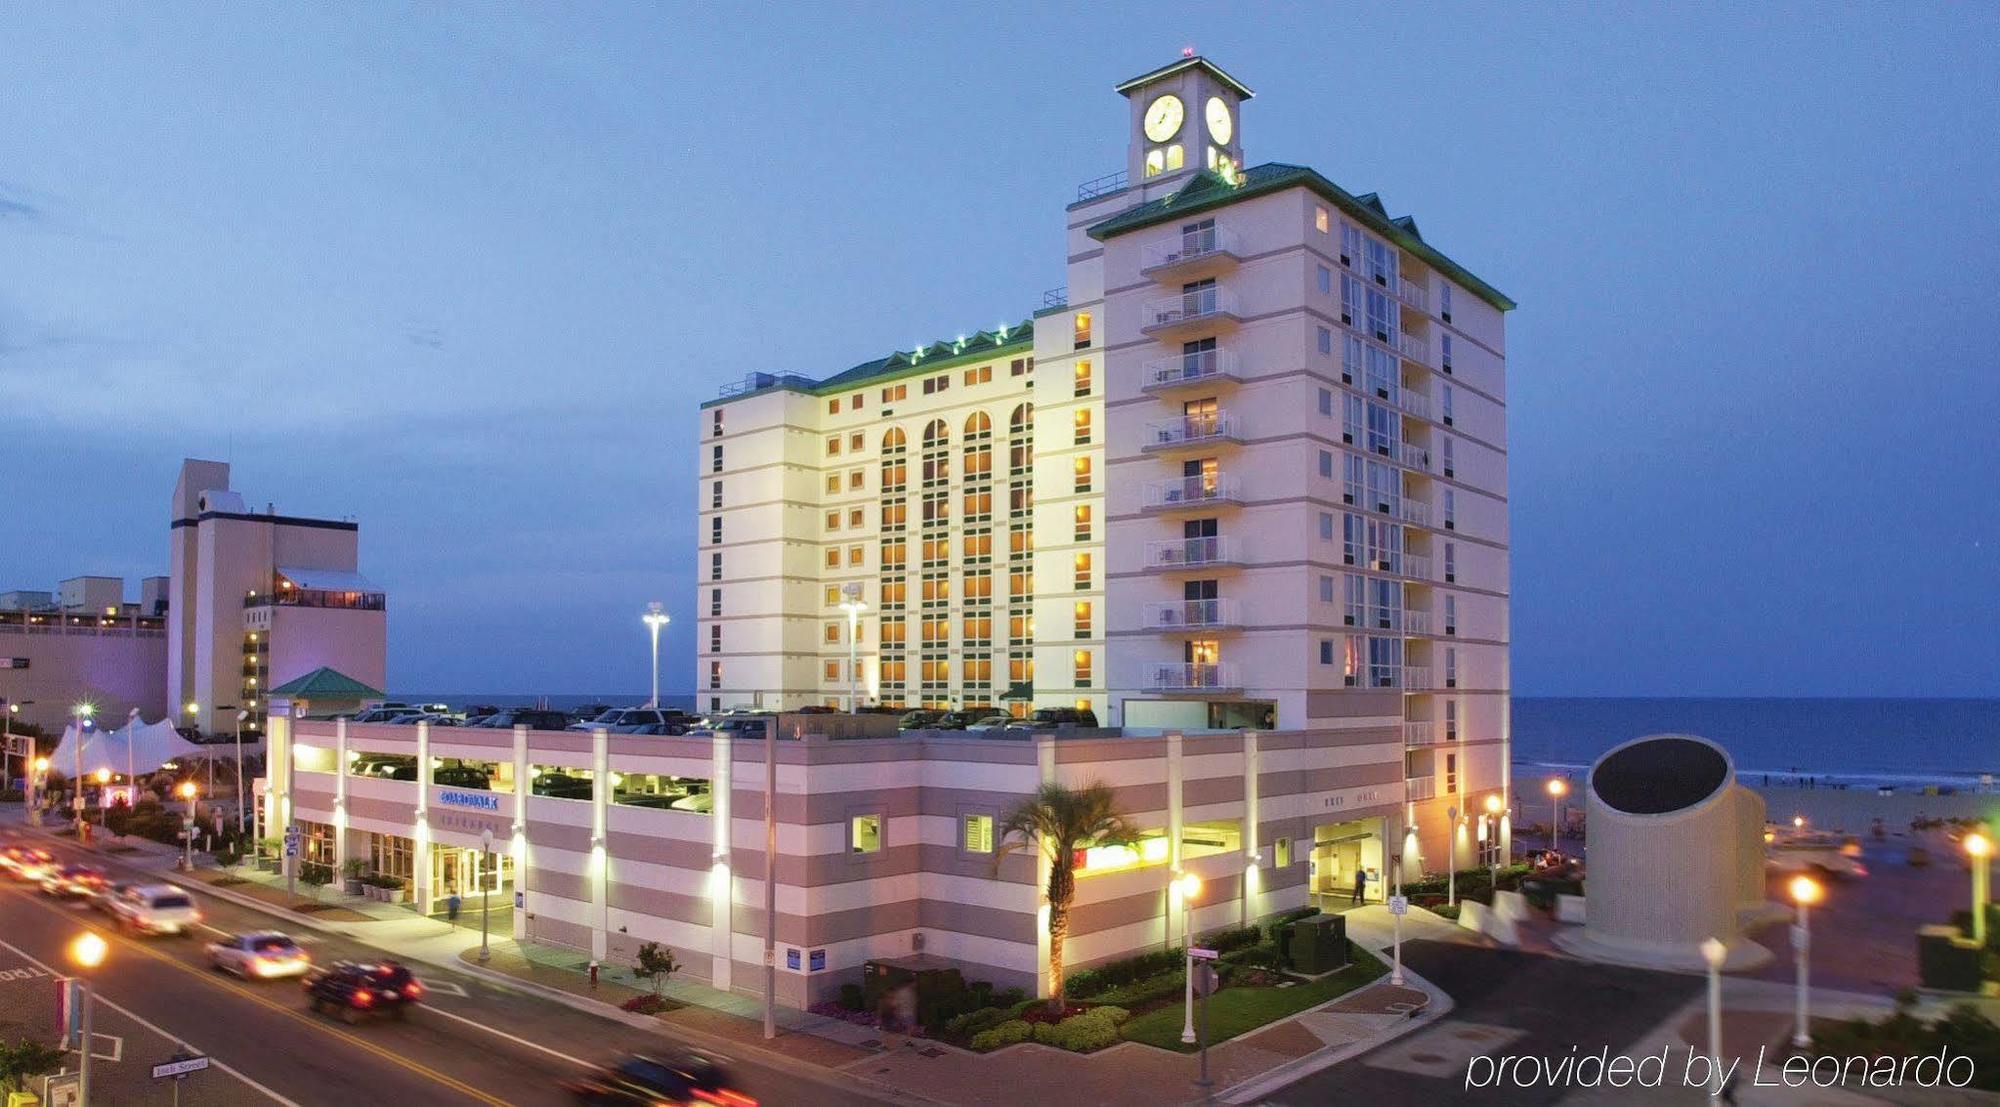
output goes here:
<path id="1" fill-rule="evenodd" d="M 102 865 L 114 881 L 156 879 L 66 843 L 38 839 L 58 857 Z M 168 1105 L 172 1089 L 150 1067 L 176 1045 L 216 1059 L 218 1069 L 190 1077 L 182 1103 L 298 1107 L 390 1103 L 558 1105 L 570 1099 L 558 1081 L 622 1051 L 672 1047 L 666 1033 L 574 1011 L 540 995 L 502 987 L 470 973 L 418 967 L 428 985 L 408 1019 L 344 1025 L 306 1011 L 296 981 L 238 981 L 208 967 L 204 943 L 220 933 L 286 929 L 314 961 L 386 957 L 340 935 L 302 931 L 210 895 L 200 899 L 204 931 L 194 939 L 126 937 L 106 915 L 48 899 L 0 879 L 0 1035 L 54 1037 L 54 975 L 66 975 L 66 947 L 84 929 L 110 943 L 92 973 L 98 995 L 100 1063 L 92 1069 L 92 1107 Z M 116 1061 L 110 1057 L 118 1057 Z M 728 1057 L 744 1091 L 766 1105 L 884 1103 L 816 1071 Z"/>

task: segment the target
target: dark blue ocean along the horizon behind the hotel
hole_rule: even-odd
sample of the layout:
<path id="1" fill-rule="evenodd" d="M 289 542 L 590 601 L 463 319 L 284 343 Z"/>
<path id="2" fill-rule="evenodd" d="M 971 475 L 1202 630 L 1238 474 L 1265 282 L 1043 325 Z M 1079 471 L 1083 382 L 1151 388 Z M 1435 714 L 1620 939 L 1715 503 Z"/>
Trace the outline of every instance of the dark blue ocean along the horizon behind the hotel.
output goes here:
<path id="1" fill-rule="evenodd" d="M 410 703 L 632 705 L 646 695 L 464 695 L 400 693 Z M 694 709 L 694 695 L 662 695 Z M 1528 767 L 1588 767 L 1620 741 L 1648 733 L 1694 733 L 1718 741 L 1750 783 L 1766 773 L 1846 783 L 1938 783 L 1972 787 L 2000 775 L 2000 699 L 1676 699 L 1514 697 L 1514 761 Z"/>

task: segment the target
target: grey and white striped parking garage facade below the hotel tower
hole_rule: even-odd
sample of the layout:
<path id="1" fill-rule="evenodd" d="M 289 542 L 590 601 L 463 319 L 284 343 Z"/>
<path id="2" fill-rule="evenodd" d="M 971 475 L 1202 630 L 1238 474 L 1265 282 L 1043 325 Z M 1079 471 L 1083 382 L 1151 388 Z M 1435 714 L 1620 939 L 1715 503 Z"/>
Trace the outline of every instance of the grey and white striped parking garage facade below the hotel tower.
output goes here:
<path id="1" fill-rule="evenodd" d="M 772 743 L 778 997 L 794 1007 L 826 999 L 858 981 L 864 961 L 918 949 L 974 979 L 1046 989 L 1046 861 L 1012 853 L 996 865 L 970 825 L 1002 817 L 1042 781 L 1104 781 L 1128 817 L 1164 837 L 1142 863 L 1086 861 L 1072 967 L 1180 941 L 1184 905 L 1168 893 L 1180 869 L 1202 877 L 1196 933 L 1298 907 L 1316 863 L 1310 843 L 1328 825 L 1400 841 L 1402 731 L 1392 703 L 1382 715 L 1344 729 L 1032 739 L 828 737 L 846 719 L 782 715 L 786 737 Z M 282 717 L 270 737 L 268 825 L 332 827 L 336 865 L 370 857 L 374 835 L 412 843 L 416 909 L 434 895 L 432 845 L 478 849 L 490 829 L 514 861 L 502 891 L 522 893 L 514 937 L 608 963 L 660 941 L 686 977 L 762 993 L 766 741 Z M 416 757 L 422 779 L 332 771 L 368 755 Z M 494 791 L 434 783 L 442 759 L 496 765 Z M 536 769 L 592 773 L 590 797 L 500 789 Z M 614 801 L 614 779 L 634 773 L 712 781 L 712 813 Z M 878 819 L 872 851 L 856 851 L 858 817 Z M 1280 839 L 1300 845 L 1280 855 Z"/>

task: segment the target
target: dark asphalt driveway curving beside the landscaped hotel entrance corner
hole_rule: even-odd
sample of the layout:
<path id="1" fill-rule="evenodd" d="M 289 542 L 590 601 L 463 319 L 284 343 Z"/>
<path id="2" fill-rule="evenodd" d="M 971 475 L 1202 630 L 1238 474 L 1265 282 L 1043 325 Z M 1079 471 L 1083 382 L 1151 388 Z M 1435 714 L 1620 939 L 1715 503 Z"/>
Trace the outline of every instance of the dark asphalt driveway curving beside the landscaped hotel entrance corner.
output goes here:
<path id="1" fill-rule="evenodd" d="M 1584 1055 L 1600 1049 L 1620 1055 L 1704 987 L 1696 975 L 1438 941 L 1404 943 L 1402 959 L 1452 997 L 1452 1013 L 1410 1037 L 1288 1085 L 1268 1095 L 1268 1103 L 1556 1103 L 1576 1089 L 1468 1089 L 1470 1057 L 1560 1059 L 1572 1047 Z"/>

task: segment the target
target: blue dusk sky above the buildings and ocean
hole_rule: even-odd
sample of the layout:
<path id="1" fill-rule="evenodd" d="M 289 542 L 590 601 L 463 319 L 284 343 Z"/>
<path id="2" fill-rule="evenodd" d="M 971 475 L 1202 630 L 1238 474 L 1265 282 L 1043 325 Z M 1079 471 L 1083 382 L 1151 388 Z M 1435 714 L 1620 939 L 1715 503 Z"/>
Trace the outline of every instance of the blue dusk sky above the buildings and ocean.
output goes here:
<path id="1" fill-rule="evenodd" d="M 1520 302 L 1518 693 L 2000 695 L 2000 6 L 220 10 L 8 12 L 0 591 L 216 458 L 392 689 L 688 689 L 696 404 L 1028 316 L 1192 44 Z"/>

